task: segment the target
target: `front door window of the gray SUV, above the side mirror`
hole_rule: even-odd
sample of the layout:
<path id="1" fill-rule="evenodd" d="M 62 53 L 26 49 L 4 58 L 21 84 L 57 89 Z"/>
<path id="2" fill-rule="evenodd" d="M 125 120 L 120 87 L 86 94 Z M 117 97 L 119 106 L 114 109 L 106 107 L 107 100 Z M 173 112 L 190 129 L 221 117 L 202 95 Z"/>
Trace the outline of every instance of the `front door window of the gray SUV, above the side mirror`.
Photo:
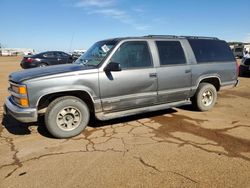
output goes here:
<path id="1" fill-rule="evenodd" d="M 152 67 L 148 44 L 144 41 L 123 43 L 117 49 L 111 61 L 120 63 L 123 69 Z"/>

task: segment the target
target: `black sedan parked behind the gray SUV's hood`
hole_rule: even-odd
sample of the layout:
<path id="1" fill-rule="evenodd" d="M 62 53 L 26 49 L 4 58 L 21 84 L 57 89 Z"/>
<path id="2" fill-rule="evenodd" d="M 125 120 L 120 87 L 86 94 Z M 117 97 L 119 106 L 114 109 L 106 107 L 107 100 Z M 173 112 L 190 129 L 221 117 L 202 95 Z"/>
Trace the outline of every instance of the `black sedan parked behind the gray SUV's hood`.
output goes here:
<path id="1" fill-rule="evenodd" d="M 24 56 L 20 66 L 23 69 L 34 67 L 45 67 L 49 65 L 59 65 L 72 63 L 73 58 L 71 55 L 61 51 L 47 51 L 39 54 Z"/>

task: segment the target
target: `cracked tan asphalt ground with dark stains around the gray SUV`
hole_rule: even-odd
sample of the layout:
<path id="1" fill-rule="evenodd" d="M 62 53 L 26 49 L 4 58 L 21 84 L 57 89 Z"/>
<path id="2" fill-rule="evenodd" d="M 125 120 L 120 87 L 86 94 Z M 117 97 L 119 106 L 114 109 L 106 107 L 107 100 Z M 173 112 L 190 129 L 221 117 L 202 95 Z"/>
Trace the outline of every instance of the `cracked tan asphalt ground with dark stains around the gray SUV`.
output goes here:
<path id="1" fill-rule="evenodd" d="M 219 93 L 212 111 L 191 106 L 91 120 L 55 139 L 43 120 L 3 116 L 18 57 L 0 57 L 0 187 L 250 187 L 250 77 Z"/>

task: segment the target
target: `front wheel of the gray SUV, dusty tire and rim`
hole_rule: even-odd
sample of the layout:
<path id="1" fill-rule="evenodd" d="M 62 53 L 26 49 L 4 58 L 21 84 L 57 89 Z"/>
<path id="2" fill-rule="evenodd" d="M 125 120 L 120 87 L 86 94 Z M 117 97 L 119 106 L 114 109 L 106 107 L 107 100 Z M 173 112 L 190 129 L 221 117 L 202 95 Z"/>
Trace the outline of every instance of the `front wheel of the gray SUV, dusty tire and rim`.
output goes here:
<path id="1" fill-rule="evenodd" d="M 45 113 L 45 125 L 54 137 L 69 138 L 80 134 L 89 123 L 89 109 L 85 102 L 65 96 L 51 102 Z"/>

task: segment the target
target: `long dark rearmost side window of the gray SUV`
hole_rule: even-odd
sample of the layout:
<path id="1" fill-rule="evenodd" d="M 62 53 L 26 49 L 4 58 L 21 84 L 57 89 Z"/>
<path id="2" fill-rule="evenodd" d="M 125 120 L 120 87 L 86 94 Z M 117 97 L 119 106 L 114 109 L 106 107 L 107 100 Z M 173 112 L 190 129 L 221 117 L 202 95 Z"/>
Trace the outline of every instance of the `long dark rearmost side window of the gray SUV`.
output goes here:
<path id="1" fill-rule="evenodd" d="M 234 56 L 225 41 L 210 39 L 188 40 L 198 63 L 234 61 Z"/>

